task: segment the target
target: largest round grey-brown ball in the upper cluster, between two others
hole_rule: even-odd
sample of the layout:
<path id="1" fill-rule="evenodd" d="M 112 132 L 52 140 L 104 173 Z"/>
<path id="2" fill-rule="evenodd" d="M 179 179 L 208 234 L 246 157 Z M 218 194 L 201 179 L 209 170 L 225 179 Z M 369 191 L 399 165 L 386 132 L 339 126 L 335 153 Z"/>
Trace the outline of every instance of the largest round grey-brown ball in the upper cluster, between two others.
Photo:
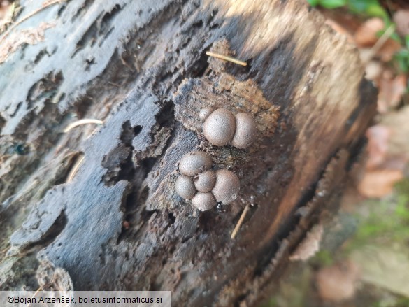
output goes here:
<path id="1" fill-rule="evenodd" d="M 234 136 L 236 119 L 229 110 L 218 108 L 211 113 L 203 124 L 205 138 L 216 146 L 227 145 Z"/>

